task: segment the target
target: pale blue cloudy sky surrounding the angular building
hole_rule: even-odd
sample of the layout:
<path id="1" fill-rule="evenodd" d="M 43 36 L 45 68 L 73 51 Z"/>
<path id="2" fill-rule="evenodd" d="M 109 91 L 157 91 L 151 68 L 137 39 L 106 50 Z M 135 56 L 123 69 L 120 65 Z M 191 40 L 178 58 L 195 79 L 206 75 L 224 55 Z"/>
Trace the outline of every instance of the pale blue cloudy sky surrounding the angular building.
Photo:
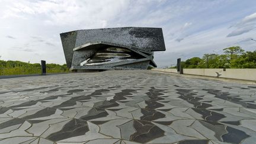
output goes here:
<path id="1" fill-rule="evenodd" d="M 0 0 L 0 59 L 64 64 L 60 33 L 160 27 L 159 68 L 241 46 L 256 50 L 255 0 Z"/>

